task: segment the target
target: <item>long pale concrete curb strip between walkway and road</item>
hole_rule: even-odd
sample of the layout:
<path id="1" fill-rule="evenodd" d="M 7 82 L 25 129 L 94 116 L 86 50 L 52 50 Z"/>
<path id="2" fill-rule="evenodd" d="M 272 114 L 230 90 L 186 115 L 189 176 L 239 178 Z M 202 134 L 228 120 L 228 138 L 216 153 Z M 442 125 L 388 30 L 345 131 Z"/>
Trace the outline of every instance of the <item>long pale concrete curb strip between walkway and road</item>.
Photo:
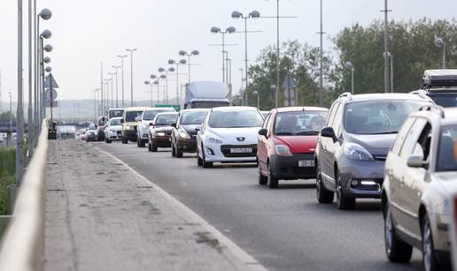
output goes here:
<path id="1" fill-rule="evenodd" d="M 146 177 L 143 177 L 140 173 L 138 173 L 135 169 L 131 168 L 126 162 L 121 161 L 119 158 L 106 152 L 105 150 L 97 147 L 98 150 L 101 152 L 108 154 L 117 162 L 120 162 L 123 166 L 131 170 L 136 177 L 139 179 L 147 182 L 148 184 L 153 184 L 155 191 L 159 192 L 165 199 L 167 199 L 171 206 L 175 207 L 179 213 L 182 214 L 184 218 L 187 218 L 190 222 L 197 223 L 198 225 L 202 226 L 206 231 L 208 231 L 214 238 L 216 238 L 221 246 L 225 248 L 222 250 L 221 253 L 225 256 L 229 262 L 236 267 L 238 270 L 252 270 L 252 271 L 267 271 L 266 267 L 263 267 L 258 260 L 255 260 L 250 254 L 244 252 L 244 250 L 236 245 L 232 240 L 228 237 L 224 236 L 221 231 L 216 230 L 213 225 L 209 222 L 206 222 L 201 216 L 197 215 L 194 211 L 192 211 L 189 207 L 185 206 L 181 201 L 175 199 L 172 195 L 168 192 L 163 190 L 159 187 L 159 185 L 153 183 Z"/>

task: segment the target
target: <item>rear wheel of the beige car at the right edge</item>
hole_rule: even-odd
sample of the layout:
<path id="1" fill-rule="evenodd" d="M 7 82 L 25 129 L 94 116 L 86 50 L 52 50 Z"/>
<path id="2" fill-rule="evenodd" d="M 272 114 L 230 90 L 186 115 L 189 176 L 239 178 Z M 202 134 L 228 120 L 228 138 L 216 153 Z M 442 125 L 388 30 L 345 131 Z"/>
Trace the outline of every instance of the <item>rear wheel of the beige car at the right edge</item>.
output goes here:
<path id="1" fill-rule="evenodd" d="M 385 208 L 384 245 L 387 258 L 393 262 L 408 262 L 411 260 L 413 247 L 397 237 L 388 202 L 386 202 Z"/>

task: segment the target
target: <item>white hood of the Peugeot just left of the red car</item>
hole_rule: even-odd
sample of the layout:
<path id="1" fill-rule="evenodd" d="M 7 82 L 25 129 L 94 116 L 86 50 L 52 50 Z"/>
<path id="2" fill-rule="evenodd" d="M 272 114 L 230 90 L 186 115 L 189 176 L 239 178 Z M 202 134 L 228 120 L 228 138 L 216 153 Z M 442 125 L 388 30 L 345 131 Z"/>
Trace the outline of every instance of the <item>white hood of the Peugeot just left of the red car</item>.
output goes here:
<path id="1" fill-rule="evenodd" d="M 212 133 L 223 139 L 225 144 L 257 144 L 260 127 L 247 128 L 206 128 L 206 134 Z M 238 140 L 244 138 L 244 140 Z"/>

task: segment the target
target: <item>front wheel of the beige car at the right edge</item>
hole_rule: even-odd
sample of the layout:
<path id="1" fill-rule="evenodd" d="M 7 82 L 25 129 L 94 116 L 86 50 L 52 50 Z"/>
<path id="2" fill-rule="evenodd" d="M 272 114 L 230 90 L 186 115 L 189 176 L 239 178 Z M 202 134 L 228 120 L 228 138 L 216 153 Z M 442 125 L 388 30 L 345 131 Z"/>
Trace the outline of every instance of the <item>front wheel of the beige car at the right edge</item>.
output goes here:
<path id="1" fill-rule="evenodd" d="M 422 262 L 425 271 L 441 270 L 437 259 L 437 253 L 433 245 L 430 219 L 427 214 L 423 215 L 422 218 Z"/>

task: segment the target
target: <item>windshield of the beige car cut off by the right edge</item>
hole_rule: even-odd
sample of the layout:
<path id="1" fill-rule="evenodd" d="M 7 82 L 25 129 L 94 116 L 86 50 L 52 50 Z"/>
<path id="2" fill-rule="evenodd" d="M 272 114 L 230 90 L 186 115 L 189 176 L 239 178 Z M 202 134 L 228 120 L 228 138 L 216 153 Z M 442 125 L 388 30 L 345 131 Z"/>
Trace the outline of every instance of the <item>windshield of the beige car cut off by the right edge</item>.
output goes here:
<path id="1" fill-rule="evenodd" d="M 457 125 L 441 128 L 437 156 L 437 171 L 457 171 Z"/>

